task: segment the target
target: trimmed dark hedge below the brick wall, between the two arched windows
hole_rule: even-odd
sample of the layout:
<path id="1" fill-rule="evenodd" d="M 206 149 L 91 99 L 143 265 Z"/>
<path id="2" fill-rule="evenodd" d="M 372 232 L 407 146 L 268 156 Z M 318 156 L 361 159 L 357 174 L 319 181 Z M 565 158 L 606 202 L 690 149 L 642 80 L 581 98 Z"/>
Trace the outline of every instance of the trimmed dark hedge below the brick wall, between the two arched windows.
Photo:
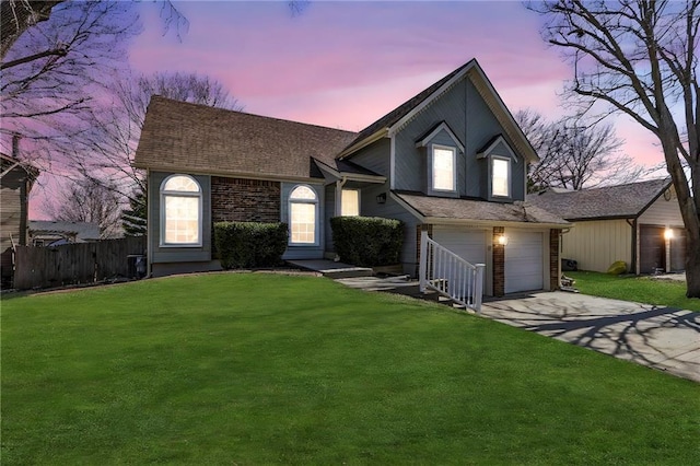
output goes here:
<path id="1" fill-rule="evenodd" d="M 224 269 L 277 266 L 287 238 L 287 223 L 214 223 L 214 246 Z"/>

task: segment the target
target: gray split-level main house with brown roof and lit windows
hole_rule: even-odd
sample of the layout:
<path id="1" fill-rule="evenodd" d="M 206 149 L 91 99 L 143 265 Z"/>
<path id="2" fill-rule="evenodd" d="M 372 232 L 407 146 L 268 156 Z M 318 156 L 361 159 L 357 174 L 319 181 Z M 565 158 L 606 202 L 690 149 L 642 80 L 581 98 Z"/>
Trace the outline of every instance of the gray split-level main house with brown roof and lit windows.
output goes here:
<path id="1" fill-rule="evenodd" d="M 217 221 L 282 221 L 284 259 L 332 257 L 329 220 L 405 222 L 416 276 L 422 231 L 486 265 L 487 294 L 559 283 L 563 219 L 525 202 L 537 154 L 476 60 L 349 132 L 154 96 L 135 166 L 148 172 L 154 276 L 218 269 Z M 508 245 L 504 245 L 508 243 Z"/>

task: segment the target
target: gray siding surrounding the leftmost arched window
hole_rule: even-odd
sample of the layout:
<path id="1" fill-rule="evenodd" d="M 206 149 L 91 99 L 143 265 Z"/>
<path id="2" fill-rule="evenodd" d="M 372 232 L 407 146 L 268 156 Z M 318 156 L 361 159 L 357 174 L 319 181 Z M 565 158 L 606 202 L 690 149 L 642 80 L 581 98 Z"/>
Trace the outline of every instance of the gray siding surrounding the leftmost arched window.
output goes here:
<path id="1" fill-rule="evenodd" d="M 183 173 L 188 175 L 187 173 Z M 202 190 L 202 241 L 198 247 L 170 247 L 160 245 L 161 236 L 161 184 L 174 173 L 151 172 L 149 174 L 149 251 L 151 264 L 208 263 L 211 260 L 211 179 L 206 175 L 194 177 Z M 202 268 L 199 264 L 197 268 Z M 208 268 L 208 267 L 207 267 Z M 154 270 L 155 273 L 155 270 Z"/>

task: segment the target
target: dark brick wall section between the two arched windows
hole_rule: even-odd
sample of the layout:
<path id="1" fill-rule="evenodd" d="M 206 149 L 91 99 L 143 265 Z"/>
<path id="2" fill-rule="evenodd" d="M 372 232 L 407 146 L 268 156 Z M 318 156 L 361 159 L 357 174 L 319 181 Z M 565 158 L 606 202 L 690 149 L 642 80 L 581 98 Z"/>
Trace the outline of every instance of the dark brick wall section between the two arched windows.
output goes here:
<path id="1" fill-rule="evenodd" d="M 212 222 L 279 222 L 280 183 L 211 177 Z"/>

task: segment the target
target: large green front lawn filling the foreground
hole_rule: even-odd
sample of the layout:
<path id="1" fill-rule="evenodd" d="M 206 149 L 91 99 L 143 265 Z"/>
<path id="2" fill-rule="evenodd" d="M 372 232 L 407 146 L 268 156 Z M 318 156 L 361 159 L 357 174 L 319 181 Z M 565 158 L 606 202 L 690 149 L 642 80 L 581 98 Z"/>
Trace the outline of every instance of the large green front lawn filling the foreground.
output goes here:
<path id="1" fill-rule="evenodd" d="M 2 303 L 3 464 L 700 464 L 700 385 L 438 304 L 221 273 Z"/>

